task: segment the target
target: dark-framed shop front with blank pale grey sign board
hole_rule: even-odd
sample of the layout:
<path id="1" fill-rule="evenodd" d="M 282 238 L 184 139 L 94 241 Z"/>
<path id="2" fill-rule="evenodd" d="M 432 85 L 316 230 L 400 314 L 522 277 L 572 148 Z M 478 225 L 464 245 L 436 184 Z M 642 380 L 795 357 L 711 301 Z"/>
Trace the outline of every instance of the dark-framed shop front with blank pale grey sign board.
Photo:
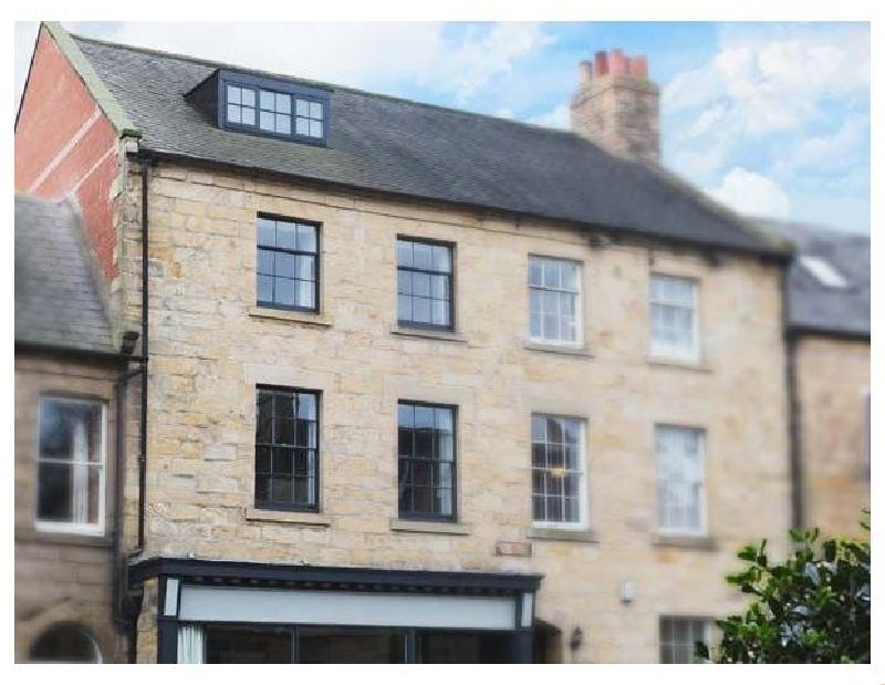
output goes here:
<path id="1" fill-rule="evenodd" d="M 159 663 L 528 663 L 541 577 L 152 559 Z"/>

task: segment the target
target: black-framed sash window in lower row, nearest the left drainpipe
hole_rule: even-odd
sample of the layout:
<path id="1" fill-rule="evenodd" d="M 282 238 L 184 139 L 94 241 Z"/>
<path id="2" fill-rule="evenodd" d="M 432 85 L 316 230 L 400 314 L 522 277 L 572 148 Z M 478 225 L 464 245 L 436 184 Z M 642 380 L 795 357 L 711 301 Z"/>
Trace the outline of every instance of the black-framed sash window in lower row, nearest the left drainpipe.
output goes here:
<path id="1" fill-rule="evenodd" d="M 256 506 L 317 510 L 320 393 L 268 387 L 256 397 Z"/>

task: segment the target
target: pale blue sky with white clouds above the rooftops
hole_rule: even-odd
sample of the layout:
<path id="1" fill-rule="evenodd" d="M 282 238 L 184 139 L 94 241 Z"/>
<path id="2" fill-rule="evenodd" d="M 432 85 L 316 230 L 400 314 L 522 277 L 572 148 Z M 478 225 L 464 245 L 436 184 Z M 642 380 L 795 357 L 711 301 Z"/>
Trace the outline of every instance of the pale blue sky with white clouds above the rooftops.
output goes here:
<path id="1" fill-rule="evenodd" d="M 35 31 L 17 23 L 17 94 Z M 645 54 L 664 163 L 739 211 L 870 231 L 866 23 L 76 23 L 75 32 L 568 127 L 577 63 Z"/>

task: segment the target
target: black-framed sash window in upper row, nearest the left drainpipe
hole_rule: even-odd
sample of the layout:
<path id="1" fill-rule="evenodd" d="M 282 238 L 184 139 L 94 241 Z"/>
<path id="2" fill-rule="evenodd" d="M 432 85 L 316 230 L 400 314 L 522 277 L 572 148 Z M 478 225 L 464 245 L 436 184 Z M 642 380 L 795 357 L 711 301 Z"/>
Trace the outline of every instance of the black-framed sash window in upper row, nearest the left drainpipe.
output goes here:
<path id="1" fill-rule="evenodd" d="M 258 217 L 258 303 L 319 311 L 319 228 Z"/>

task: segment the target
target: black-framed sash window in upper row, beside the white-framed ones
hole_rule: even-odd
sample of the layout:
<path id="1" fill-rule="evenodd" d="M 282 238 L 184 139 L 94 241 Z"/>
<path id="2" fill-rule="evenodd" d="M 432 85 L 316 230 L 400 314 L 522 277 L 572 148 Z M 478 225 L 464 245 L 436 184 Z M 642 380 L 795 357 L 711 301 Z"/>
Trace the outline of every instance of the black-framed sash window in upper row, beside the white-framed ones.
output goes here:
<path id="1" fill-rule="evenodd" d="M 452 329 L 452 246 L 396 241 L 397 319 L 400 325 Z"/>

